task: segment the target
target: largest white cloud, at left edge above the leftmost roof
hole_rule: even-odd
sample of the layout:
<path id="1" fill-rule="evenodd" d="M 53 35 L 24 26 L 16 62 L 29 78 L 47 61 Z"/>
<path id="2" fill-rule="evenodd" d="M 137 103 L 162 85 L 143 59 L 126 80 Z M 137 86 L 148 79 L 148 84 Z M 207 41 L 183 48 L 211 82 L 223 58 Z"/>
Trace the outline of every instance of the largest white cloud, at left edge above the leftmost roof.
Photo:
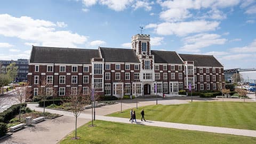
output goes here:
<path id="1" fill-rule="evenodd" d="M 51 21 L 38 20 L 30 17 L 12 17 L 0 14 L 0 35 L 18 37 L 20 39 L 47 46 L 76 47 L 83 44 L 87 37 L 71 31 L 57 31 L 57 25 Z"/>

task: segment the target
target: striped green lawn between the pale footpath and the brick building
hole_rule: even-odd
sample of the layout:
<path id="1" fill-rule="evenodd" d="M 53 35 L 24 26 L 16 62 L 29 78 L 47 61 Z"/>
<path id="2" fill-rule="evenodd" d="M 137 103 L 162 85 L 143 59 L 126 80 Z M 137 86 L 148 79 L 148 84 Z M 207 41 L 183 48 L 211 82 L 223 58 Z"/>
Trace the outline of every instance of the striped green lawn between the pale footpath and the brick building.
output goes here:
<path id="1" fill-rule="evenodd" d="M 134 108 L 137 112 L 137 121 L 140 121 L 142 108 L 145 109 L 146 120 L 256 130 L 255 102 L 193 102 L 181 105 L 146 106 Z M 109 116 L 128 119 L 130 110 Z"/>

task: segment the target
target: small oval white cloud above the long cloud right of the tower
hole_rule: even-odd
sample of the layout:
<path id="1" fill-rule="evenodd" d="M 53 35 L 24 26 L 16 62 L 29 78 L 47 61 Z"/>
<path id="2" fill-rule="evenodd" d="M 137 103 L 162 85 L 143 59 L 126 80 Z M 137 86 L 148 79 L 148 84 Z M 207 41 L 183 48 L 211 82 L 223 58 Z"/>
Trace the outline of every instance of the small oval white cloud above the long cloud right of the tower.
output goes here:
<path id="1" fill-rule="evenodd" d="M 165 21 L 175 22 L 191 17 L 192 14 L 186 9 L 169 9 L 160 13 L 160 18 Z"/>

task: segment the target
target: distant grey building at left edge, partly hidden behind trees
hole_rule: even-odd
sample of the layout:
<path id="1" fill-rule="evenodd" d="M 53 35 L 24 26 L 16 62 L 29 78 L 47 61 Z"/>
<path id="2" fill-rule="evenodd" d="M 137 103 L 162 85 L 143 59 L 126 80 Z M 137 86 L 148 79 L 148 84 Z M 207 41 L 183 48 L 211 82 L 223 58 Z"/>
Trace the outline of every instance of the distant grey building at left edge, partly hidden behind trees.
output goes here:
<path id="1" fill-rule="evenodd" d="M 11 63 L 15 62 L 16 66 L 18 67 L 18 74 L 15 79 L 16 82 L 27 82 L 28 81 L 28 63 L 29 60 L 27 59 L 18 59 L 15 60 L 0 60 L 2 65 L 2 73 L 6 73 L 6 67 L 9 66 Z"/>

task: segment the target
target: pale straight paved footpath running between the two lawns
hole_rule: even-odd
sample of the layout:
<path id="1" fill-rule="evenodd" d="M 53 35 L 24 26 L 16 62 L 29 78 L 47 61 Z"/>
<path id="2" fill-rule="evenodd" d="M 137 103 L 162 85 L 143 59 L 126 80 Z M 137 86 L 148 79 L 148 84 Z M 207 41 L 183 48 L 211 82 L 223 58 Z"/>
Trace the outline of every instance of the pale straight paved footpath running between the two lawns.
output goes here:
<path id="1" fill-rule="evenodd" d="M 43 111 L 43 108 L 36 107 L 35 104 L 28 105 L 31 109 L 37 111 Z M 73 113 L 69 111 L 60 111 L 53 109 L 46 109 L 50 113 L 57 113 L 65 116 L 73 116 Z M 74 116 L 73 116 L 74 117 Z M 82 113 L 79 118 L 91 119 L 90 114 Z M 96 119 L 102 121 L 119 122 L 119 123 L 130 123 L 129 118 L 119 118 L 119 117 L 109 117 L 96 115 Z M 168 127 L 181 130 L 193 130 L 193 131 L 203 131 L 203 132 L 213 132 L 213 133 L 223 133 L 223 134 L 233 134 L 242 135 L 247 137 L 256 137 L 256 131 L 253 130 L 242 130 L 242 129 L 231 129 L 226 127 L 215 127 L 215 126 L 203 126 L 203 125 L 193 125 L 193 124 L 181 124 L 181 123 L 168 123 L 168 122 L 158 122 L 158 121 L 147 121 L 147 122 L 137 122 L 137 124 L 148 125 L 148 126 L 159 126 Z"/>

